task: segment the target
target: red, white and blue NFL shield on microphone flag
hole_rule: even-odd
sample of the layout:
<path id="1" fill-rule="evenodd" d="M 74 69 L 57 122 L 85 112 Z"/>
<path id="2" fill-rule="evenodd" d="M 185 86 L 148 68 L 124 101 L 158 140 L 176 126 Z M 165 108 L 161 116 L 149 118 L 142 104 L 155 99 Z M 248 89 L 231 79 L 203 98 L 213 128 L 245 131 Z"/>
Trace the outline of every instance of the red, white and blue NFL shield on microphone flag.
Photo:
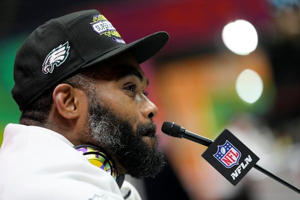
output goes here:
<path id="1" fill-rule="evenodd" d="M 217 152 L 213 156 L 226 168 L 238 164 L 241 153 L 228 140 L 223 145 L 217 145 L 217 148 Z"/>

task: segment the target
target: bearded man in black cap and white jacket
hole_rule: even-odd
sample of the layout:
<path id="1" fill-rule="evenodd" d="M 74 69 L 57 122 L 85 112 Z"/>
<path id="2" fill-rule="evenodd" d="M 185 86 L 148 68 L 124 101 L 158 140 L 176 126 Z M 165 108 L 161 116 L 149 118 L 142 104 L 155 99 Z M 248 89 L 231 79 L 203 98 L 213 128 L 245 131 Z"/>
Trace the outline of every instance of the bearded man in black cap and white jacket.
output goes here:
<path id="1" fill-rule="evenodd" d="M 4 130 L 0 199 L 140 199 L 123 175 L 154 176 L 164 158 L 139 63 L 167 40 L 125 44 L 97 10 L 37 27 L 15 57 L 21 117 Z"/>

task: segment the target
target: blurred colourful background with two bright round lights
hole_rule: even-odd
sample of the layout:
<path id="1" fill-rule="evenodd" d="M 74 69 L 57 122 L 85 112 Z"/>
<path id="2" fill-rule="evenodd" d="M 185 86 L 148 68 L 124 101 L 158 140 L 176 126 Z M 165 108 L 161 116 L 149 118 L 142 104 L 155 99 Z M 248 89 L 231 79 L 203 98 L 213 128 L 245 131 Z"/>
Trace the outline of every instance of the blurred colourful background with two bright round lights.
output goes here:
<path id="1" fill-rule="evenodd" d="M 50 18 L 92 8 L 127 43 L 159 30 L 170 35 L 141 64 L 168 163 L 155 178 L 126 177 L 143 199 L 299 199 L 254 168 L 233 186 L 201 157 L 205 146 L 160 132 L 163 121 L 211 139 L 227 128 L 258 165 L 299 188 L 299 0 L 1 0 L 0 144 L 20 115 L 10 90 L 22 41 Z"/>

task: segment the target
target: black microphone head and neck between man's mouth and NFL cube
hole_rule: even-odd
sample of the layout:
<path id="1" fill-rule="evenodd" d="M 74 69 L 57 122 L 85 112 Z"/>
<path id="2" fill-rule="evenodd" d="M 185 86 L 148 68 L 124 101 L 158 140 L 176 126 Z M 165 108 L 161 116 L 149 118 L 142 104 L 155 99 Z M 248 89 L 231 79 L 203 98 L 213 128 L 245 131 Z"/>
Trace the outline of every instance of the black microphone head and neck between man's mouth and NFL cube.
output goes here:
<path id="1" fill-rule="evenodd" d="M 161 127 L 161 131 L 173 137 L 186 138 L 199 144 L 209 146 L 213 140 L 206 137 L 197 135 L 193 132 L 185 130 L 184 127 L 170 121 L 164 121 Z"/>

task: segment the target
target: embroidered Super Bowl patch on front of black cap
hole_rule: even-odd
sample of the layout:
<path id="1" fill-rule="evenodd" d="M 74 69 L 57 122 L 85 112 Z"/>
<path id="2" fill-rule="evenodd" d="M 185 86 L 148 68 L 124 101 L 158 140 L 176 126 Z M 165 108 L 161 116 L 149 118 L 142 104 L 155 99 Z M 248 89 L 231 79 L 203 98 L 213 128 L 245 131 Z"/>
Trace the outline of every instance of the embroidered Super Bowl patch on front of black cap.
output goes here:
<path id="1" fill-rule="evenodd" d="M 99 35 L 106 35 L 111 37 L 112 41 L 118 43 L 125 43 L 125 41 L 121 38 L 121 35 L 116 31 L 113 25 L 106 19 L 106 17 L 102 14 L 93 16 L 92 22 L 90 22 L 93 31 L 98 33 Z M 118 38 L 117 38 L 118 37 Z"/>

